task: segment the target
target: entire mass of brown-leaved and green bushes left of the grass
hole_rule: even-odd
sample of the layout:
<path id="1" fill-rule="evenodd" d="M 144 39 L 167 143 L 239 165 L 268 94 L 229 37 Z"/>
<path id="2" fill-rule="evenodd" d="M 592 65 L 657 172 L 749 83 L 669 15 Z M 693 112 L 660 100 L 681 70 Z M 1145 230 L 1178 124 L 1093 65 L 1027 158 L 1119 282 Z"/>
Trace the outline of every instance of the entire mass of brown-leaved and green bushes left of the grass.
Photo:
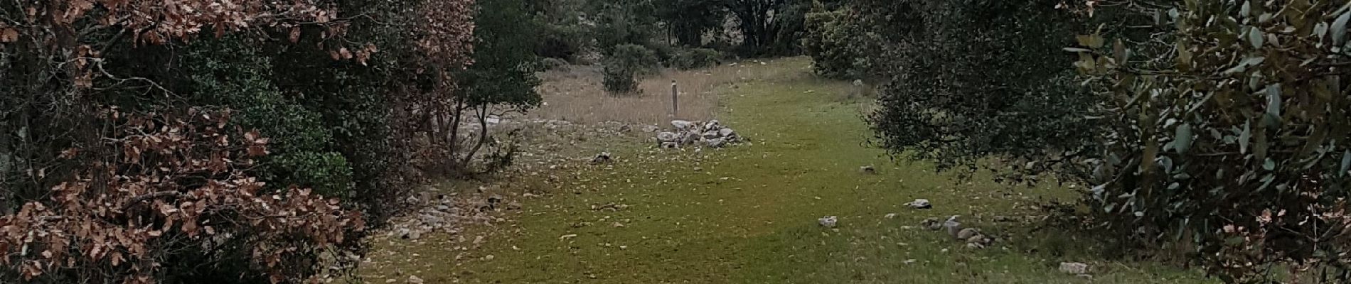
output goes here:
<path id="1" fill-rule="evenodd" d="M 0 93 L 16 94 L 0 96 L 0 281 L 300 283 L 350 268 L 363 219 L 420 182 L 413 166 L 451 160 L 411 143 L 450 132 L 430 117 L 499 102 L 454 92 L 469 8 L 0 3 Z"/>

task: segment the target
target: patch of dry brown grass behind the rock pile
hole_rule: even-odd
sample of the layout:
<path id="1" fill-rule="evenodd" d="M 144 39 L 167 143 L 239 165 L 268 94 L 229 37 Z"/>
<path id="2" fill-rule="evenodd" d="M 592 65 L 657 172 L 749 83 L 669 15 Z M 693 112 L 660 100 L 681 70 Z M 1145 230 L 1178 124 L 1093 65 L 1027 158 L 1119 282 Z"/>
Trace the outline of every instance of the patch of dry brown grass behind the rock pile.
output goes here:
<path id="1" fill-rule="evenodd" d="M 793 61 L 793 59 L 789 59 Z M 707 70 L 667 70 L 639 82 L 639 94 L 612 96 L 601 86 L 598 66 L 570 66 L 540 74 L 544 104 L 528 113 L 532 118 L 573 122 L 620 121 L 665 125 L 671 113 L 671 79 L 680 86 L 680 120 L 716 118 L 719 86 L 751 78 L 781 75 L 755 61 Z"/>

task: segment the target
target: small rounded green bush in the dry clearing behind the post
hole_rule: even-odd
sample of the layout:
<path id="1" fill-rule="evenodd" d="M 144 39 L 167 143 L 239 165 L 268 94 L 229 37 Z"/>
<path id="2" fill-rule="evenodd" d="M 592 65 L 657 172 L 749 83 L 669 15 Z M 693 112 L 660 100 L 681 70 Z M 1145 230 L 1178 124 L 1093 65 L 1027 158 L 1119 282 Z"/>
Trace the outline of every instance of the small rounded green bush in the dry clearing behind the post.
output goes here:
<path id="1" fill-rule="evenodd" d="M 605 57 L 601 83 L 613 94 L 638 92 L 638 75 L 651 74 L 659 67 L 657 55 L 638 44 L 616 46 Z"/>

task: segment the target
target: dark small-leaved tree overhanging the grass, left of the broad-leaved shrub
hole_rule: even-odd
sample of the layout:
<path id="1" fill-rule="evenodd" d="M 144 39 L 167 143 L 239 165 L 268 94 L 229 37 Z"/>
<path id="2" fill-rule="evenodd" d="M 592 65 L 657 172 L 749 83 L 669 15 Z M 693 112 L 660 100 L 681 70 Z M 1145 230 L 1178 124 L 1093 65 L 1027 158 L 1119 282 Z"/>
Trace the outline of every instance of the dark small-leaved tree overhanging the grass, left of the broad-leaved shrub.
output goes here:
<path id="1" fill-rule="evenodd" d="M 1088 117 L 1097 97 L 1075 87 L 1063 67 L 1070 58 L 1062 43 L 1082 24 L 1055 4 L 861 4 L 901 12 L 871 15 L 888 17 L 874 23 L 902 22 L 885 43 L 894 48 L 869 57 L 890 78 L 881 108 L 869 116 L 875 143 L 943 170 L 974 170 L 985 157 L 1002 157 L 1009 171 L 1001 172 L 1015 180 L 1036 180 L 1039 170 L 1078 159 L 1101 133 Z"/>

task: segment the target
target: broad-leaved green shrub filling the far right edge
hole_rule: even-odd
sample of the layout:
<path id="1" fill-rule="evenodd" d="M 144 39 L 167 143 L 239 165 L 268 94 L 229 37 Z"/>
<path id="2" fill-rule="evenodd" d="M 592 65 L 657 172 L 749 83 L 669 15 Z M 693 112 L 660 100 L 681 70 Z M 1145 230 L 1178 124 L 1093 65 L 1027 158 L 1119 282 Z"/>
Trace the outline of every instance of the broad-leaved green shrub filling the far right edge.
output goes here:
<path id="1" fill-rule="evenodd" d="M 1096 221 L 1135 242 L 1186 240 L 1227 283 L 1281 281 L 1273 265 L 1351 281 L 1351 11 L 1196 0 L 1158 20 L 1124 12 L 1140 19 L 1124 27 L 1148 32 L 1066 48 L 1111 98 L 1085 201 Z"/>

